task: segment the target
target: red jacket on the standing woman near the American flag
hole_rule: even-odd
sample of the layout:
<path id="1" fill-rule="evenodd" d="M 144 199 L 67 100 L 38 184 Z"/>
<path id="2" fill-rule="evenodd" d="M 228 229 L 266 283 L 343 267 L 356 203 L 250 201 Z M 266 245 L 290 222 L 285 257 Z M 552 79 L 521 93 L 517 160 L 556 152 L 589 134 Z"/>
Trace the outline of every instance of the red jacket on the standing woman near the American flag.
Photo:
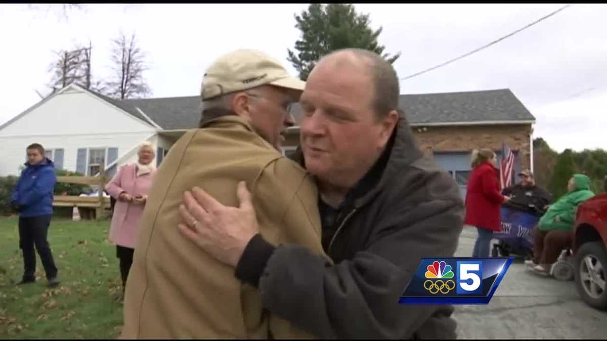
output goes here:
<path id="1" fill-rule="evenodd" d="M 500 194 L 498 170 L 489 162 L 474 167 L 468 178 L 466 192 L 466 220 L 464 223 L 478 228 L 500 231 Z"/>

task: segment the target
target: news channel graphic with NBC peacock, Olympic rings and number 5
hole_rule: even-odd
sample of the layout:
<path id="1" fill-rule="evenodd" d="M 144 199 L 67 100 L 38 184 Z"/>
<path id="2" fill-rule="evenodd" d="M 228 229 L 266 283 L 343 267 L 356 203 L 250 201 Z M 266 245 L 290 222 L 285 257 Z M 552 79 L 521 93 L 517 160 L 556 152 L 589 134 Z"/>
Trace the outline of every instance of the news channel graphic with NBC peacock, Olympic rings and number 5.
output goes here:
<path id="1" fill-rule="evenodd" d="M 487 304 L 514 257 L 422 258 L 399 304 Z"/>

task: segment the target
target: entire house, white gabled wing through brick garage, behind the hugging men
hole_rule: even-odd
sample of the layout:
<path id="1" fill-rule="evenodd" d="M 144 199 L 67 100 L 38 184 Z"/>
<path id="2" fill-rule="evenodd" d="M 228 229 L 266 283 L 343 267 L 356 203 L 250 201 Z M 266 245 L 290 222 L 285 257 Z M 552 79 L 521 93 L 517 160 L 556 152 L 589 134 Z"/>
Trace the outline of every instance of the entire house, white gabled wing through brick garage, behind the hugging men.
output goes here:
<path id="1" fill-rule="evenodd" d="M 506 144 L 517 155 L 514 170 L 533 167 L 535 117 L 509 89 L 401 95 L 413 135 L 466 192 L 470 151 L 488 147 L 501 158 Z M 299 144 L 299 106 L 291 115 L 283 152 Z M 105 166 L 137 160 L 137 146 L 150 141 L 160 164 L 166 152 L 200 121 L 200 96 L 114 100 L 70 84 L 0 126 L 0 176 L 18 174 L 25 147 L 42 144 L 57 168 L 95 175 Z"/>

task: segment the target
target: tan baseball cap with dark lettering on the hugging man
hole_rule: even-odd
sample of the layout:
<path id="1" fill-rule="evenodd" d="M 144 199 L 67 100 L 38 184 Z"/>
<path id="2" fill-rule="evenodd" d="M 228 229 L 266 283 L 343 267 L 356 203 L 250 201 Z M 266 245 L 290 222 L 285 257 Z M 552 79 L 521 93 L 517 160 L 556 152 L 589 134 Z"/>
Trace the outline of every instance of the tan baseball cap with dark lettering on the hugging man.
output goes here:
<path id="1" fill-rule="evenodd" d="M 219 57 L 206 69 L 200 95 L 205 101 L 265 84 L 300 91 L 305 87 L 276 59 L 258 50 L 240 49 Z"/>

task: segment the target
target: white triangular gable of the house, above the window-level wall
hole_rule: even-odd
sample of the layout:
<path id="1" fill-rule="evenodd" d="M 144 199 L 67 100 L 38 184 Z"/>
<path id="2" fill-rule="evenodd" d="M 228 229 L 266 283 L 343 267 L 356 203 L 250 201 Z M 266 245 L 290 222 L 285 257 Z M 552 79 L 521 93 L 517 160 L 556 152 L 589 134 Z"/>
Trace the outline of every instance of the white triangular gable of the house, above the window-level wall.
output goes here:
<path id="1" fill-rule="evenodd" d="M 0 129 L 0 137 L 155 131 L 91 93 L 66 90 Z"/>

